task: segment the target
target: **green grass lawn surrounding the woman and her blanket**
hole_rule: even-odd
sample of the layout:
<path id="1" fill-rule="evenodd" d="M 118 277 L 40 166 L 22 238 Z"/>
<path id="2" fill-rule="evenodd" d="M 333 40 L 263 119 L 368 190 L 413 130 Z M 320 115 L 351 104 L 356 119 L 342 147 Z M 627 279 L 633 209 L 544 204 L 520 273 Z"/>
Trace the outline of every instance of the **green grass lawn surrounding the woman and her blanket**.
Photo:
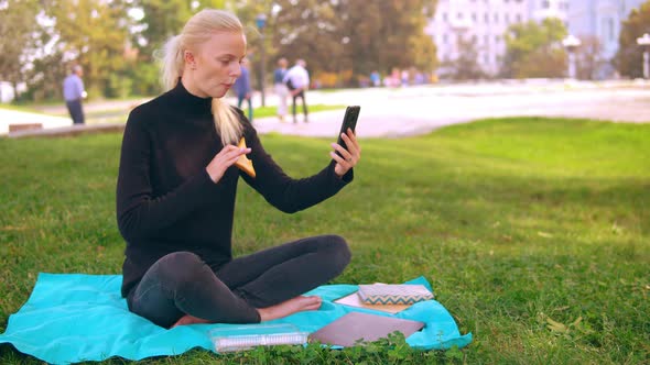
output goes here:
<path id="1" fill-rule="evenodd" d="M 316 173 L 328 143 L 262 137 L 292 176 Z M 39 272 L 119 274 L 115 221 L 121 135 L 0 140 L 0 331 Z M 488 120 L 403 140 L 364 140 L 355 181 L 286 215 L 239 189 L 236 254 L 322 233 L 354 258 L 335 283 L 424 275 L 474 342 L 416 353 L 403 342 L 343 352 L 310 346 L 148 364 L 650 361 L 650 125 Z M 554 324 L 556 321 L 562 324 Z M 36 364 L 0 347 L 0 363 Z M 118 364 L 120 361 L 106 362 Z"/>

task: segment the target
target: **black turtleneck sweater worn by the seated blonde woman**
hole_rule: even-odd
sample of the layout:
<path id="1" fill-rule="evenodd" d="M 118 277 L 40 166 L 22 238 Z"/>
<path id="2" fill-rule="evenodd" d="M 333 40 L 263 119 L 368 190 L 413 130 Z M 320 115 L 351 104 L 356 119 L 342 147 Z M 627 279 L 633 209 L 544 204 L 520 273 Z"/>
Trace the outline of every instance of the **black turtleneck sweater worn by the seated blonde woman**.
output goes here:
<path id="1" fill-rule="evenodd" d="M 210 101 L 191 95 L 178 82 L 129 114 L 117 182 L 118 226 L 127 241 L 123 297 L 169 253 L 194 252 L 213 269 L 232 258 L 230 240 L 240 176 L 284 212 L 314 206 L 353 179 L 351 170 L 339 178 L 334 161 L 308 178 L 286 176 L 237 110 L 257 177 L 231 166 L 213 182 L 205 168 L 223 144 Z"/>

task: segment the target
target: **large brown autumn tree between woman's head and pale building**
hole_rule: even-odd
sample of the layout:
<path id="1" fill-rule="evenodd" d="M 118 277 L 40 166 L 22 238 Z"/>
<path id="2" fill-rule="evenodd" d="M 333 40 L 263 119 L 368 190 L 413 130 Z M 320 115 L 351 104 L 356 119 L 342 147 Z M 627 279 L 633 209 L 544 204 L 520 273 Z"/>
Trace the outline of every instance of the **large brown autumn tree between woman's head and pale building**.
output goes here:
<path id="1" fill-rule="evenodd" d="M 279 54 L 305 58 L 314 74 L 367 76 L 393 67 L 435 67 L 435 47 L 424 25 L 432 0 L 279 0 L 273 44 Z"/>

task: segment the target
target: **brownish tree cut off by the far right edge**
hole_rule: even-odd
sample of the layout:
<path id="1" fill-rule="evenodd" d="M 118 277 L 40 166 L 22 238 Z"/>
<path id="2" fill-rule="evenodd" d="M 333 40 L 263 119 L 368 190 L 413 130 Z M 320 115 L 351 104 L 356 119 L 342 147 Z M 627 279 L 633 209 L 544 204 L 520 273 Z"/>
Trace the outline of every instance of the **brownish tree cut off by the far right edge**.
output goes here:
<path id="1" fill-rule="evenodd" d="M 618 36 L 618 52 L 614 57 L 614 64 L 621 75 L 632 78 L 643 76 L 643 51 L 637 44 L 637 38 L 644 33 L 650 33 L 650 1 L 633 9 L 622 22 Z"/>

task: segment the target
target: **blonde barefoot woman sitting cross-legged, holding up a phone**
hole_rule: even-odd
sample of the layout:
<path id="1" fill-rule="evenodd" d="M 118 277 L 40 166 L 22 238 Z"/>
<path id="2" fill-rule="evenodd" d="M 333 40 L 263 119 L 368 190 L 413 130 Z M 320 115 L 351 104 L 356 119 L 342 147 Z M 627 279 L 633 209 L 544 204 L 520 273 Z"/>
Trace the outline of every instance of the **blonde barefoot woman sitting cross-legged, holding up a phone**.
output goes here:
<path id="1" fill-rule="evenodd" d="M 232 258 L 237 181 L 295 212 L 335 195 L 353 179 L 360 158 L 332 144 L 318 174 L 292 179 L 264 152 L 240 110 L 221 101 L 241 73 L 246 37 L 239 20 L 203 10 L 165 45 L 169 90 L 129 115 L 117 184 L 117 218 L 127 241 L 122 296 L 129 309 L 170 328 L 199 322 L 256 323 L 321 306 L 301 296 L 343 272 L 346 242 L 307 237 Z M 236 146 L 240 137 L 247 148 Z M 234 166 L 247 155 L 256 178 Z"/>

